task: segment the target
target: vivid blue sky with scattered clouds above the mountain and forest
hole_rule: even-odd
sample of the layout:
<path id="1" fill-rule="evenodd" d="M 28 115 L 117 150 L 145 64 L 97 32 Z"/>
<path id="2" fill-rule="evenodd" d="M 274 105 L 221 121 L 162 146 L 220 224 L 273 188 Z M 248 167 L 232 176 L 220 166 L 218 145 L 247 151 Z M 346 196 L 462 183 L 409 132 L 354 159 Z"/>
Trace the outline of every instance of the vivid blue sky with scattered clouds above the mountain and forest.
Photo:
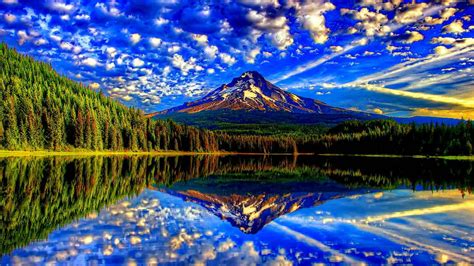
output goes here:
<path id="1" fill-rule="evenodd" d="M 338 107 L 474 118 L 472 0 L 1 1 L 2 41 L 145 112 L 257 70 Z"/>

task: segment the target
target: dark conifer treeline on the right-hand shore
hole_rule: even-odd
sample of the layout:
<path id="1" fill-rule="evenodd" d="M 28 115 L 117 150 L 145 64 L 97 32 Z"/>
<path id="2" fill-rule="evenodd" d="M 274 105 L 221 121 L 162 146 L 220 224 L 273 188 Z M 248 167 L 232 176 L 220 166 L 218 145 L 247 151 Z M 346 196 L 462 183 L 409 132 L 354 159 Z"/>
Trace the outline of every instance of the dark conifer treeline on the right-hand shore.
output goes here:
<path id="1" fill-rule="evenodd" d="M 403 125 L 393 120 L 347 121 L 327 134 L 300 138 L 300 152 L 472 155 L 474 123 Z"/>

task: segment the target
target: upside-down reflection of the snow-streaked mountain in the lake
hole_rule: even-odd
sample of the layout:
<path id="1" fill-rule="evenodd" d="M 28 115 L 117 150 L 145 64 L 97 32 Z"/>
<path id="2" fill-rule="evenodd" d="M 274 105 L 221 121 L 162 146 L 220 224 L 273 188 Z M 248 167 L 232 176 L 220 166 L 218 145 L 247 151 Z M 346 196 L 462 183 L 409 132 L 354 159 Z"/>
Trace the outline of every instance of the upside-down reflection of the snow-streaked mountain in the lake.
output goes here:
<path id="1" fill-rule="evenodd" d="M 305 177 L 310 172 L 225 173 L 156 189 L 196 203 L 247 234 L 255 234 L 278 217 L 297 210 L 379 191 L 367 187 L 348 187 L 330 178 L 313 175 L 316 172 Z"/>

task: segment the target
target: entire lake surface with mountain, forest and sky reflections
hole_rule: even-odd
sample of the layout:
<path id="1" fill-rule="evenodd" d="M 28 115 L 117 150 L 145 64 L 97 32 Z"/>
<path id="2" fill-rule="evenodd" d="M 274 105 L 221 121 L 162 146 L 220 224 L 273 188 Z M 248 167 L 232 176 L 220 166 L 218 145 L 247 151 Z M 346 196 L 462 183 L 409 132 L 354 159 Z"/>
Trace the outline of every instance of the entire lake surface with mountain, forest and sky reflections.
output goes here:
<path id="1" fill-rule="evenodd" d="M 474 263 L 472 161 L 0 159 L 1 264 Z"/>

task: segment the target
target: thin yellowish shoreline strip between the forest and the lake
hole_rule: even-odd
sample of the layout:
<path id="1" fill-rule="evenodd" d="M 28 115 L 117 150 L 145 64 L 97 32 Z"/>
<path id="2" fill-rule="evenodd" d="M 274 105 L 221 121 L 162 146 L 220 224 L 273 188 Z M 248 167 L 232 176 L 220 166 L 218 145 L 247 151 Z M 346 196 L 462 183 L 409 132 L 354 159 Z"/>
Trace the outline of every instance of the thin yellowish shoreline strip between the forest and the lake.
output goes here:
<path id="1" fill-rule="evenodd" d="M 400 154 L 341 154 L 341 153 L 250 153 L 250 152 L 187 152 L 187 151 L 9 151 L 0 150 L 0 158 L 5 157 L 41 157 L 41 156 L 320 156 L 320 157 L 368 157 L 368 158 L 413 158 L 443 160 L 474 160 L 474 155 L 400 155 Z"/>

